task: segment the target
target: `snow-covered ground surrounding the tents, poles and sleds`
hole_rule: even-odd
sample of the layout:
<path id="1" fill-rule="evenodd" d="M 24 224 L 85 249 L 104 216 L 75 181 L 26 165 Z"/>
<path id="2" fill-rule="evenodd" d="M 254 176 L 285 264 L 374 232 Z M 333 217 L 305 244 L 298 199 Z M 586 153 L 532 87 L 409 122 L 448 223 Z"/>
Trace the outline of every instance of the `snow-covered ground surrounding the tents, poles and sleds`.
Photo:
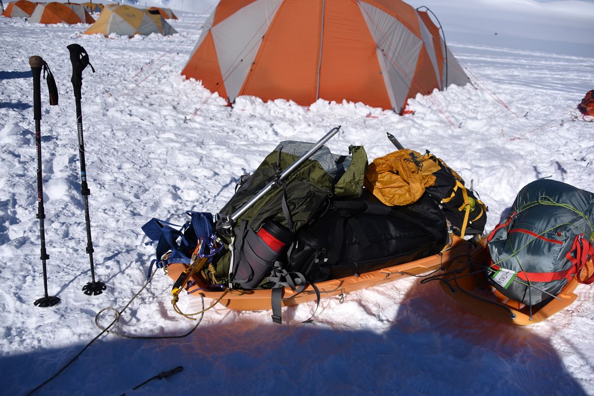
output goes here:
<path id="1" fill-rule="evenodd" d="M 551 175 L 594 191 L 594 123 L 570 117 L 594 88 L 594 4 L 441 3 L 413 5 L 443 14 L 450 48 L 479 89 L 451 87 L 418 97 L 410 101 L 416 113 L 404 117 L 323 100 L 303 108 L 244 97 L 226 107 L 199 82 L 179 75 L 206 18 L 197 11 L 171 22 L 180 34 L 133 39 L 81 36 L 87 25 L 0 18 L 2 393 L 26 394 L 52 376 L 99 333 L 94 317 L 100 309 L 123 308 L 141 288 L 153 258 L 140 229 L 146 221 L 180 223 L 189 209 L 216 213 L 238 176 L 254 170 L 280 140 L 315 141 L 341 124 L 342 132 L 328 142 L 331 150 L 364 145 L 372 159 L 393 151 L 385 137 L 393 133 L 473 180 L 489 206 L 489 230 L 535 178 Z M 517 15 L 533 23 L 523 30 L 513 23 Z M 502 21 L 495 36 L 492 27 Z M 533 46 L 534 26 L 542 46 Z M 589 34 L 567 33 L 572 30 Z M 97 71 L 84 71 L 83 122 L 96 276 L 108 290 L 92 297 L 81 292 L 90 270 L 66 49 L 71 43 L 87 49 Z M 50 108 L 42 82 L 48 282 L 50 294 L 62 299 L 53 308 L 33 305 L 43 296 L 43 278 L 31 55 L 48 62 L 61 95 L 59 106 Z M 194 323 L 170 309 L 169 290 L 169 279 L 158 274 L 118 330 L 146 336 L 189 331 Z M 37 394 L 592 395 L 594 289 L 581 285 L 577 293 L 573 305 L 525 328 L 476 317 L 436 283 L 416 279 L 351 293 L 343 304 L 324 299 L 307 325 L 301 321 L 315 304 L 286 309 L 280 326 L 268 311 L 217 306 L 186 338 L 103 336 Z M 192 309 L 200 302 L 184 298 L 185 304 Z M 108 325 L 112 314 L 104 312 L 100 321 Z M 182 373 L 130 390 L 179 365 Z"/>

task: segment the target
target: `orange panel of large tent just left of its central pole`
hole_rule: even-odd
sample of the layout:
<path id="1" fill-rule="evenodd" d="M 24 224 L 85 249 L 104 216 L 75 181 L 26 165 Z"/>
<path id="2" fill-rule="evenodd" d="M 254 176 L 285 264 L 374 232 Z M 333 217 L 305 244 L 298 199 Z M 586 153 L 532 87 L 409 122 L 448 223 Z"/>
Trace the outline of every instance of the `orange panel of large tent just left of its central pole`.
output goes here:
<path id="1" fill-rule="evenodd" d="M 239 95 L 314 103 L 320 59 L 322 0 L 280 5 Z"/>

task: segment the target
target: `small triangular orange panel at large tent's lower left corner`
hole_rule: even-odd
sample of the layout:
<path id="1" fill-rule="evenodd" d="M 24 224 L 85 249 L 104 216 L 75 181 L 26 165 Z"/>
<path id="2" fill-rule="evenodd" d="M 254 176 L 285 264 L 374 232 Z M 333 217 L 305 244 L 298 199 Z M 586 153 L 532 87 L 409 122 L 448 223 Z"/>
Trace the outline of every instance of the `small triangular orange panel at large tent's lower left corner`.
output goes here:
<path id="1" fill-rule="evenodd" d="M 219 92 L 219 96 L 227 98 L 227 91 L 223 84 L 223 76 L 220 72 L 217 60 L 216 48 L 214 47 L 213 34 L 209 31 L 204 41 L 198 47 L 188 65 L 182 71 L 182 75 L 189 77 L 200 76 L 202 85 L 211 92 Z"/>

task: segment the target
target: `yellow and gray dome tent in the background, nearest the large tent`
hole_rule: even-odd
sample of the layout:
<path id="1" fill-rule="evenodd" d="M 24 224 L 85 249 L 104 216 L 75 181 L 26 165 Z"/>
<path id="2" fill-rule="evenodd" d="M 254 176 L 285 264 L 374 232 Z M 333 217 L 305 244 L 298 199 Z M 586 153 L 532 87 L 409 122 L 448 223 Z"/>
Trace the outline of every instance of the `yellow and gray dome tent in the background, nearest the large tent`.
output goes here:
<path id="1" fill-rule="evenodd" d="M 171 27 L 159 11 L 138 9 L 129 5 L 118 7 L 105 7 L 97 21 L 91 25 L 85 34 L 121 34 L 122 36 L 134 36 L 135 34 L 160 33 L 163 36 L 178 33 Z"/>

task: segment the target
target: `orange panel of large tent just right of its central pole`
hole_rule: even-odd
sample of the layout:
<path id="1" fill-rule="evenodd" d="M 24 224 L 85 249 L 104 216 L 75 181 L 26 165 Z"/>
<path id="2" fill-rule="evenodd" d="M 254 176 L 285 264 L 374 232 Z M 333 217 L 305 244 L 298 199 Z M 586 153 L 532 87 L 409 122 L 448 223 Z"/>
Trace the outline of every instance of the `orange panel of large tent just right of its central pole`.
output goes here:
<path id="1" fill-rule="evenodd" d="M 377 46 L 358 5 L 326 0 L 324 14 L 320 98 L 391 108 Z"/>

